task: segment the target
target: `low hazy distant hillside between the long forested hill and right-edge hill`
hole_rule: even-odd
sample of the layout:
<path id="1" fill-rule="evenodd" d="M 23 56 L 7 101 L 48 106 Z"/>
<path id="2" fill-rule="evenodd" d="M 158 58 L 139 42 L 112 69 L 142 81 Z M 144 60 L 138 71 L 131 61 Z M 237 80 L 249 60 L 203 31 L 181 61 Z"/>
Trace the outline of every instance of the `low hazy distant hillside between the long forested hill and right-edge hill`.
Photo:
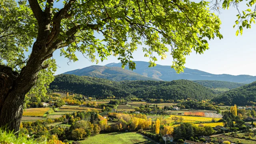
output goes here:
<path id="1" fill-rule="evenodd" d="M 225 82 L 225 81 L 219 81 L 219 80 L 193 80 L 193 82 L 196 82 L 198 84 L 201 84 L 208 88 L 238 88 L 240 86 L 245 85 L 244 83 L 238 83 L 238 82 Z"/>

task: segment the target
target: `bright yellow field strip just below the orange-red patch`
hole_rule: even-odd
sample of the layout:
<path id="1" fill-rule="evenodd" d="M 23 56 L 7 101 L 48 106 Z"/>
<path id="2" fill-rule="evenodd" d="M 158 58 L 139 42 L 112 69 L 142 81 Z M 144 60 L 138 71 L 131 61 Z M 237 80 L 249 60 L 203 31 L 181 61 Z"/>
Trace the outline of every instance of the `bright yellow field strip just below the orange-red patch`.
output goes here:
<path id="1" fill-rule="evenodd" d="M 180 117 L 180 116 L 178 116 Z M 199 116 L 182 116 L 184 120 L 182 122 L 209 122 L 212 121 L 212 118 L 206 118 L 206 117 L 199 117 Z M 215 118 L 216 121 L 220 120 L 221 118 Z M 169 116 L 166 121 L 168 123 L 172 122 L 172 116 Z"/>

